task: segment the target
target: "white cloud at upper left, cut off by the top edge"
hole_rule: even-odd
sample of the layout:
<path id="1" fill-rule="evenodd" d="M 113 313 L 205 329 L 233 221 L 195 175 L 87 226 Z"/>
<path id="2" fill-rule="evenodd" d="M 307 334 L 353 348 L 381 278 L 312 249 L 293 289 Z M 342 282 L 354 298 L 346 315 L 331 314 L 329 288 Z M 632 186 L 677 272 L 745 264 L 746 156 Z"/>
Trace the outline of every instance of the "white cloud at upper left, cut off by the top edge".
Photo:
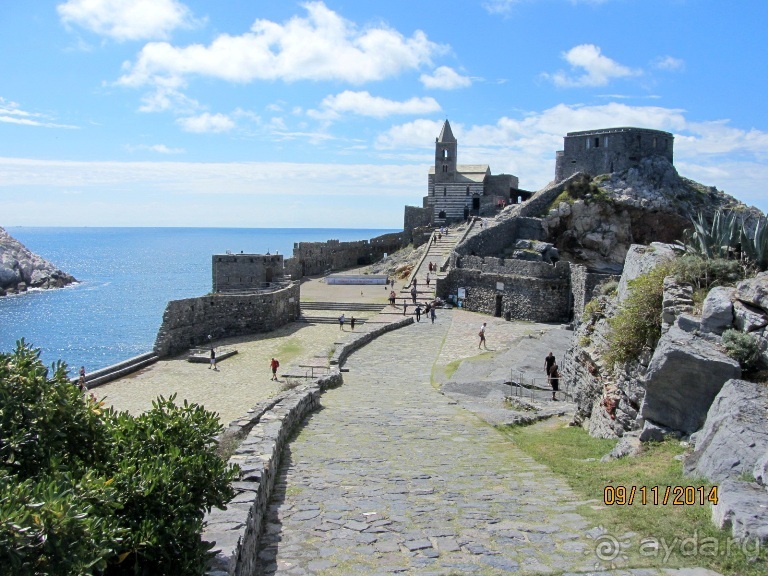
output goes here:
<path id="1" fill-rule="evenodd" d="M 176 28 L 197 24 L 177 0 L 67 0 L 56 9 L 65 24 L 119 42 L 167 38 Z"/>

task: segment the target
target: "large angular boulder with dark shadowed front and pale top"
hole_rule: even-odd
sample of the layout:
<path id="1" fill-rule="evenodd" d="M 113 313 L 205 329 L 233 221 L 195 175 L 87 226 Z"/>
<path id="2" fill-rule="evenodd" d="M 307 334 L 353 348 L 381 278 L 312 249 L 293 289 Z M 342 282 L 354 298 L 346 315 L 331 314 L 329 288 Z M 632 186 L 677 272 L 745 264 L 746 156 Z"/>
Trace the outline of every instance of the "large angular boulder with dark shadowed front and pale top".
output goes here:
<path id="1" fill-rule="evenodd" d="M 714 344 L 672 326 L 648 365 L 640 415 L 672 430 L 701 428 L 723 384 L 741 377 L 739 363 Z"/>

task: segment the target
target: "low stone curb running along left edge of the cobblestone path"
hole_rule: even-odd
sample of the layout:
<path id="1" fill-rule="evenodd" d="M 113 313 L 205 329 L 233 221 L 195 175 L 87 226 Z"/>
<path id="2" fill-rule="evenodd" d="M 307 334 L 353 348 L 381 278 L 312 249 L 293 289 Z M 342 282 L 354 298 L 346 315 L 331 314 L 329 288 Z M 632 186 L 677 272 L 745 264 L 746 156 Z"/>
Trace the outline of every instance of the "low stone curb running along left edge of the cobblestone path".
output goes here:
<path id="1" fill-rule="evenodd" d="M 261 402 L 252 413 L 229 424 L 227 433 L 247 436 L 229 459 L 229 464 L 237 464 L 241 470 L 239 481 L 234 483 L 235 497 L 226 510 L 216 508 L 205 517 L 202 539 L 215 542 L 216 554 L 209 566 L 209 576 L 257 573 L 259 538 L 289 438 L 307 414 L 319 408 L 323 391 L 343 383 L 339 368 L 352 352 L 413 322 L 412 317 L 403 318 L 360 333 L 336 350 L 329 375 Z"/>

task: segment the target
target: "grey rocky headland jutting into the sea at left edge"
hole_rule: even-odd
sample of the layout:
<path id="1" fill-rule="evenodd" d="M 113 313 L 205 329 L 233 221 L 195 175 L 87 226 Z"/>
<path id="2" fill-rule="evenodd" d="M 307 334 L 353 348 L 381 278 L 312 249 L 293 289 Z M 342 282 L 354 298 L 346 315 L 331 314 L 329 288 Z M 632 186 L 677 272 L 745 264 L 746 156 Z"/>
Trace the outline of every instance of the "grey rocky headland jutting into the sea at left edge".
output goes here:
<path id="1" fill-rule="evenodd" d="M 61 288 L 76 281 L 0 228 L 0 296 L 30 288 Z"/>

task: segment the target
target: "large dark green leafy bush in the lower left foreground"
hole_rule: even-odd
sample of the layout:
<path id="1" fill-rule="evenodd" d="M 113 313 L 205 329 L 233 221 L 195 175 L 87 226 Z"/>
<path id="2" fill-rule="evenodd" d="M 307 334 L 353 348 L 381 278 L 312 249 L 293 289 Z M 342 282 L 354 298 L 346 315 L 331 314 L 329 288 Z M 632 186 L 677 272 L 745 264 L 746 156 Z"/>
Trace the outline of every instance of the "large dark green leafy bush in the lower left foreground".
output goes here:
<path id="1" fill-rule="evenodd" d="M 216 415 L 174 400 L 118 413 L 23 340 L 0 354 L 0 575 L 204 573 L 203 517 L 237 470 Z"/>

